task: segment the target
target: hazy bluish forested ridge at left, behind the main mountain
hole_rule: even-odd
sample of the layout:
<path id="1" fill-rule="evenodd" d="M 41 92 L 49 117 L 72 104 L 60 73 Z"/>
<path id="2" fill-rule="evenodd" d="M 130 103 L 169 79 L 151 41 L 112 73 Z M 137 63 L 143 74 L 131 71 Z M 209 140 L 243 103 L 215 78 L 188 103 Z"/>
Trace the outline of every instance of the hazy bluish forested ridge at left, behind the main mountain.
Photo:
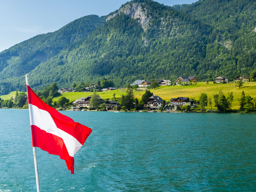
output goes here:
<path id="1" fill-rule="evenodd" d="M 102 26 L 105 20 L 105 17 L 88 15 L 69 23 L 58 31 L 37 35 L 1 52 L 0 82 L 1 79 L 19 77 L 29 73 L 68 45 L 87 37 L 92 31 Z M 2 92 L 6 90 L 4 85 L 6 84 L 0 83 Z M 12 87 L 14 89 L 17 86 L 16 84 Z"/>

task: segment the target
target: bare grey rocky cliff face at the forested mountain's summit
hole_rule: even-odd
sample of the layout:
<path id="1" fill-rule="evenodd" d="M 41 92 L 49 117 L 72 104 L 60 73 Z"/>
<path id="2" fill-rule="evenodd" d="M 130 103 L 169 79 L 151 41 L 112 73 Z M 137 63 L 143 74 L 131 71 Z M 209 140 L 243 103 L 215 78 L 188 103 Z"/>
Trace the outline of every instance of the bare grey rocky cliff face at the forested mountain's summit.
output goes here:
<path id="1" fill-rule="evenodd" d="M 142 26 L 144 30 L 147 29 L 147 23 L 149 22 L 150 18 L 147 18 L 146 16 L 146 10 L 141 9 L 140 3 L 134 3 L 132 5 L 126 5 L 125 7 L 122 7 L 119 9 L 118 13 L 114 13 L 113 15 L 109 15 L 109 17 L 106 19 L 106 22 L 112 18 L 114 18 L 117 14 L 124 13 L 125 15 L 129 16 L 133 19 L 138 19 L 138 22 Z"/>

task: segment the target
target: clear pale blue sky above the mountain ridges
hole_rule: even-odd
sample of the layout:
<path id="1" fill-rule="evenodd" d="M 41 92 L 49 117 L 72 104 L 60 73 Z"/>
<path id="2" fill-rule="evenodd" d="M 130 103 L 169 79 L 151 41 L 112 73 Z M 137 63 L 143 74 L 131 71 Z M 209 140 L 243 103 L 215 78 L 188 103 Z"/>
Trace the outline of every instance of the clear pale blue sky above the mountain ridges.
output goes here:
<path id="1" fill-rule="evenodd" d="M 85 15 L 107 15 L 127 0 L 9 0 L 0 4 L 0 52 L 38 34 L 60 29 Z M 173 6 L 195 0 L 156 0 Z"/>

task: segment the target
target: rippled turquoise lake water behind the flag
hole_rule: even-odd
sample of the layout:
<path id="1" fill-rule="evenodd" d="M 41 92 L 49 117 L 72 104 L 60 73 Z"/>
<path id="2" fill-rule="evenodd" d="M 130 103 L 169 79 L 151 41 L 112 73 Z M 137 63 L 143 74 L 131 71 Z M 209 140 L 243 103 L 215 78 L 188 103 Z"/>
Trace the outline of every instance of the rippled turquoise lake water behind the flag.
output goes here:
<path id="1" fill-rule="evenodd" d="M 61 113 L 92 133 L 75 174 L 37 148 L 41 191 L 256 191 L 256 115 Z M 28 110 L 0 109 L 0 191 L 36 191 Z"/>

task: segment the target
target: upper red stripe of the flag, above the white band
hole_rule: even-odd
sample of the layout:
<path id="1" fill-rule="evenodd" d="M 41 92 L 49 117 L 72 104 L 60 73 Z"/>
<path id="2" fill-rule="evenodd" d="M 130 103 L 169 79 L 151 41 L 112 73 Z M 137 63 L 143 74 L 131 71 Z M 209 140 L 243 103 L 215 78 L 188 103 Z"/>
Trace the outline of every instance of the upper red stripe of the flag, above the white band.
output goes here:
<path id="1" fill-rule="evenodd" d="M 84 144 L 85 140 L 87 139 L 87 137 L 89 137 L 90 133 L 92 132 L 92 130 L 89 127 L 74 122 L 73 119 L 69 118 L 66 115 L 62 115 L 56 109 L 48 106 L 30 89 L 28 85 L 27 91 L 29 104 L 32 104 L 38 107 L 39 109 L 48 111 L 52 116 L 54 123 L 59 129 L 72 135 L 82 145 Z"/>

